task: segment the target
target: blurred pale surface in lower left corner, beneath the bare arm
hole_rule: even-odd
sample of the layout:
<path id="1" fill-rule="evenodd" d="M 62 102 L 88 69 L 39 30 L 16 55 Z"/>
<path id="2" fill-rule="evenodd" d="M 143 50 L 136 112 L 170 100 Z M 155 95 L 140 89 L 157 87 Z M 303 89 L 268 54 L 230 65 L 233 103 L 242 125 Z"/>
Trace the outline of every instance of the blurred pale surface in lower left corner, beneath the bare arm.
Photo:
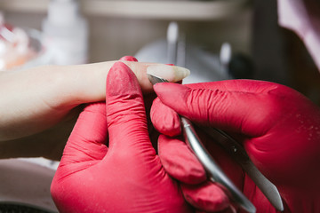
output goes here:
<path id="1" fill-rule="evenodd" d="M 57 211 L 50 195 L 54 172 L 37 163 L 0 160 L 0 201 L 22 202 Z"/>

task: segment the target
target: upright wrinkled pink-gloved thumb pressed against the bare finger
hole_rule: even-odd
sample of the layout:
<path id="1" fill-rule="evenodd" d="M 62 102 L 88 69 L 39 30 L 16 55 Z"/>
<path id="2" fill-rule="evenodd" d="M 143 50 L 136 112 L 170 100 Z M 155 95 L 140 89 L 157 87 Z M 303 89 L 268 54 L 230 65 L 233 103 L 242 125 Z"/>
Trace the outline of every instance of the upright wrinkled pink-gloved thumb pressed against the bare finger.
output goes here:
<path id="1" fill-rule="evenodd" d="M 147 148 L 155 153 L 148 138 L 140 84 L 124 63 L 116 62 L 108 72 L 106 94 L 109 149 L 136 154 Z"/>

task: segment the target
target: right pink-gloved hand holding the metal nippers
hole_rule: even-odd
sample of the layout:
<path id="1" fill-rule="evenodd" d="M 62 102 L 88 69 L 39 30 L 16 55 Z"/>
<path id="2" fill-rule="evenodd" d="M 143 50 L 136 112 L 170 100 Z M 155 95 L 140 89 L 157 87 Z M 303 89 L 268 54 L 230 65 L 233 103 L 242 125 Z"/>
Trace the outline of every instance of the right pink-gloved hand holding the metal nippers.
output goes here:
<path id="1" fill-rule="evenodd" d="M 180 135 L 183 115 L 236 138 L 258 169 L 273 182 L 284 201 L 284 212 L 320 212 L 320 110 L 298 91 L 284 85 L 250 80 L 180 85 L 157 83 L 158 99 L 151 120 L 162 132 L 158 140 L 164 169 L 176 179 L 196 209 L 230 208 L 219 185 L 211 184 Z M 241 168 L 197 130 L 213 158 L 256 206 L 276 212 Z M 240 210 L 240 209 L 238 209 Z"/>

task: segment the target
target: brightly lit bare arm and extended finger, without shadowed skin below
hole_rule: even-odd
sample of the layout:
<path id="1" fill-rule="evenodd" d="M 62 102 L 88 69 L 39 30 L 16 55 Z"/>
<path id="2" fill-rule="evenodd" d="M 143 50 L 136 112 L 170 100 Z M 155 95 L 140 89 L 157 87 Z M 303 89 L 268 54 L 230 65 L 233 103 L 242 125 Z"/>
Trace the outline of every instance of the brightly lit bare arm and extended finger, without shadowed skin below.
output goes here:
<path id="1" fill-rule="evenodd" d="M 105 79 L 114 63 L 35 67 L 0 73 L 3 98 L 0 139 L 20 138 L 45 130 L 64 119 L 75 106 L 104 100 Z M 135 70 L 142 91 L 152 91 L 146 75 L 148 64 L 125 63 Z"/>

